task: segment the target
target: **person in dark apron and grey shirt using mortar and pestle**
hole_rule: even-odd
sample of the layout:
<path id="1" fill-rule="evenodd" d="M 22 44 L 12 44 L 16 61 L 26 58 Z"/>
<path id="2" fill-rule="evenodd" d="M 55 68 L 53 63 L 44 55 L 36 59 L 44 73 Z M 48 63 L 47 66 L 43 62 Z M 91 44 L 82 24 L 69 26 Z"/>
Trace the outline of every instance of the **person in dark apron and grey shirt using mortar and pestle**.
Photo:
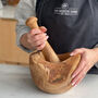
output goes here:
<path id="1" fill-rule="evenodd" d="M 15 17 L 17 46 L 27 52 L 42 50 L 46 40 L 60 54 L 81 53 L 78 68 L 72 75 L 76 86 L 98 62 L 97 0 L 21 0 Z M 38 17 L 39 28 L 30 29 L 25 22 Z"/>

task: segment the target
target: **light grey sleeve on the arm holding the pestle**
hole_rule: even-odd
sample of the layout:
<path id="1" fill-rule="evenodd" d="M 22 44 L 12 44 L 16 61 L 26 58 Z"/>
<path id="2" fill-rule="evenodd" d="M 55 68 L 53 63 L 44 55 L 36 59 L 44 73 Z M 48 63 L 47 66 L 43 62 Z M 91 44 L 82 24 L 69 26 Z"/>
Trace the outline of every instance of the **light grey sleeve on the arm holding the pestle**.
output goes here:
<path id="1" fill-rule="evenodd" d="M 26 49 L 20 42 L 22 35 L 29 33 L 30 28 L 26 26 L 25 22 L 29 16 L 35 16 L 36 0 L 21 0 L 16 7 L 15 20 L 16 24 L 16 45 L 26 52 L 33 52 L 33 50 Z"/>

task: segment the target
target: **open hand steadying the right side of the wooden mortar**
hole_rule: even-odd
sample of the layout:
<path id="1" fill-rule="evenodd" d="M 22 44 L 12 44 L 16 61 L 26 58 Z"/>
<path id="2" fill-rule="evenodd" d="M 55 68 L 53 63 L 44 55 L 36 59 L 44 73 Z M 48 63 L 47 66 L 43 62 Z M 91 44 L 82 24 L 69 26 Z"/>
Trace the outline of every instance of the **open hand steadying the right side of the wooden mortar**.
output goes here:
<path id="1" fill-rule="evenodd" d="M 71 52 L 71 56 L 81 53 L 81 62 L 72 75 L 72 86 L 76 86 L 85 77 L 86 73 L 98 61 L 98 49 L 79 48 Z"/>

